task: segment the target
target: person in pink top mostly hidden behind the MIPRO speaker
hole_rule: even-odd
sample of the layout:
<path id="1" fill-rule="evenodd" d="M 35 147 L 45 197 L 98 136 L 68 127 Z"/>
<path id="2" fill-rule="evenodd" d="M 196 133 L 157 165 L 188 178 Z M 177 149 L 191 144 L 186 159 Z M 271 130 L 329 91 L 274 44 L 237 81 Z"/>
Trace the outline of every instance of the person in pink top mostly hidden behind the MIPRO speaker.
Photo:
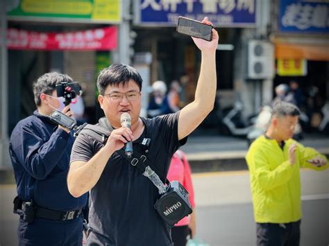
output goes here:
<path id="1" fill-rule="evenodd" d="M 167 179 L 171 182 L 177 180 L 186 188 L 189 193 L 189 203 L 192 206 L 192 213 L 178 221 L 178 223 L 171 228 L 171 237 L 175 246 L 185 246 L 188 236 L 194 238 L 196 232 L 195 222 L 195 204 L 194 204 L 194 190 L 191 179 L 191 168 L 186 159 L 185 153 L 182 150 L 177 150 L 170 163 Z"/>

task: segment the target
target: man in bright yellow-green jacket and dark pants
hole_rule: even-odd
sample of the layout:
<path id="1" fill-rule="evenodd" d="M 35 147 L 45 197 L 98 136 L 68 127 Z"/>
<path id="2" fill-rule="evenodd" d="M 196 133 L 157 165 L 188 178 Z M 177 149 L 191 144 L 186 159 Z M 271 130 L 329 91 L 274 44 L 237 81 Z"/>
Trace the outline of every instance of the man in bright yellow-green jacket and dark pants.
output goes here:
<path id="1" fill-rule="evenodd" d="M 276 103 L 267 132 L 251 144 L 246 154 L 257 245 L 299 245 L 299 168 L 328 168 L 325 156 L 292 139 L 299 114 L 291 103 Z"/>

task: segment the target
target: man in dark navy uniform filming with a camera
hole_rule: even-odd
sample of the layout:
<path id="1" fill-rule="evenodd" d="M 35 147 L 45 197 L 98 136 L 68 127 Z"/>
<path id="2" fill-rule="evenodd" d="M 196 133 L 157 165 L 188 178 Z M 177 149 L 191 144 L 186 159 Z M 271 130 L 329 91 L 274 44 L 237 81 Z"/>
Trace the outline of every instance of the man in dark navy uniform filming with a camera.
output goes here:
<path id="1" fill-rule="evenodd" d="M 67 189 L 69 155 L 74 137 L 49 118 L 58 109 L 56 85 L 73 82 L 61 73 L 45 73 L 33 84 L 37 110 L 19 121 L 10 137 L 10 158 L 18 196 L 19 245 L 82 245 L 81 210 L 87 195 L 73 197 Z M 72 116 L 69 105 L 62 109 Z"/>

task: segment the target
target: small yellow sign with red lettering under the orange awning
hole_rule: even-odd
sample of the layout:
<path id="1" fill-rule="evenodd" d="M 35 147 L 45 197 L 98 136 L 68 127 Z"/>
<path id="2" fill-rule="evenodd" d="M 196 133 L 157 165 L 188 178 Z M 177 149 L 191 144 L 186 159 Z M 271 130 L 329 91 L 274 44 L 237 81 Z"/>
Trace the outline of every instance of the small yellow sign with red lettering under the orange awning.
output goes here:
<path id="1" fill-rule="evenodd" d="M 304 59 L 278 59 L 278 76 L 305 76 L 307 61 Z"/>

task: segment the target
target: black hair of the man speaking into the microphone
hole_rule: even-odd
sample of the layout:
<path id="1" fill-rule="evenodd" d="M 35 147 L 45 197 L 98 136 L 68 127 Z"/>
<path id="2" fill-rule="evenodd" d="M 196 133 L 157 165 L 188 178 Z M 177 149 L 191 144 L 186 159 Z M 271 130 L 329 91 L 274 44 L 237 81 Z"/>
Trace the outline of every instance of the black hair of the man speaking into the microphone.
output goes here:
<path id="1" fill-rule="evenodd" d="M 104 95 L 108 85 L 114 85 L 116 87 L 121 83 L 126 85 L 130 79 L 135 80 L 141 91 L 143 80 L 136 69 L 126 64 L 112 64 L 99 73 L 99 77 L 97 78 L 99 94 Z"/>

